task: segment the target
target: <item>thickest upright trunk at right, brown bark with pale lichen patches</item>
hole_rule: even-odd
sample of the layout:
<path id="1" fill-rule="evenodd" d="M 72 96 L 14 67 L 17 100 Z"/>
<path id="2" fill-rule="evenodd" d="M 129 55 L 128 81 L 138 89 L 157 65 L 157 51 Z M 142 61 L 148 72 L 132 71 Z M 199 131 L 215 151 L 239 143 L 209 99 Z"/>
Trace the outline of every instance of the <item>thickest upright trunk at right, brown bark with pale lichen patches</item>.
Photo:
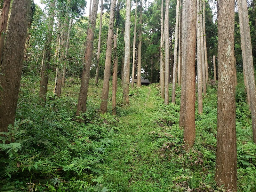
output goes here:
<path id="1" fill-rule="evenodd" d="M 237 191 L 236 100 L 234 80 L 235 1 L 219 1 L 218 6 L 218 104 L 217 104 L 217 185 Z"/>

